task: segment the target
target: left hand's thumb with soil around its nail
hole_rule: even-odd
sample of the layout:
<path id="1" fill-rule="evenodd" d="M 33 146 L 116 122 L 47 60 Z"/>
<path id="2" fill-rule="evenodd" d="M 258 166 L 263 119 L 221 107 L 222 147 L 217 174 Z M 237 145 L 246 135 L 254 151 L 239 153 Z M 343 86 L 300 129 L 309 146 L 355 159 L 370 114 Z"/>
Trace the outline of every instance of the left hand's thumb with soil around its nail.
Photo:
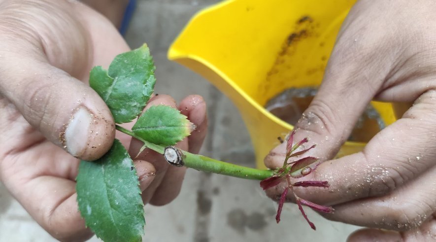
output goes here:
<path id="1" fill-rule="evenodd" d="M 112 145 L 115 126 L 100 96 L 41 56 L 0 52 L 0 94 L 48 140 L 84 160 Z"/>

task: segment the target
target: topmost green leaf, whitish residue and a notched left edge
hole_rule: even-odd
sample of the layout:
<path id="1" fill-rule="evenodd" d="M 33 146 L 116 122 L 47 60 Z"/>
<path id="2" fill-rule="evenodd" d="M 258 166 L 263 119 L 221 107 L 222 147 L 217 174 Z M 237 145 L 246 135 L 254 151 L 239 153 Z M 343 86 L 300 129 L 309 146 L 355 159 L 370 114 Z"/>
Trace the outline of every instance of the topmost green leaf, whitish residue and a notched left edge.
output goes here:
<path id="1" fill-rule="evenodd" d="M 109 70 L 94 67 L 90 86 L 109 107 L 115 123 L 127 123 L 136 118 L 153 93 L 156 78 L 150 50 L 140 48 L 115 57 Z"/>

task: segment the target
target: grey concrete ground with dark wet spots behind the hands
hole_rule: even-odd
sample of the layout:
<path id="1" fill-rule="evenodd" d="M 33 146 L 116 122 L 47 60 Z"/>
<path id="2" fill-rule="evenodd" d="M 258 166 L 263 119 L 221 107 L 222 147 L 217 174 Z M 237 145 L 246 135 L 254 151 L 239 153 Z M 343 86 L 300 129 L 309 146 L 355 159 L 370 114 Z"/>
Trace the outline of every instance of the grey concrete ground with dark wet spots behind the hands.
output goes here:
<path id="1" fill-rule="evenodd" d="M 254 166 L 253 148 L 231 101 L 192 71 L 169 62 L 169 44 L 190 17 L 217 0 L 139 0 L 126 36 L 132 48 L 147 42 L 157 66 L 156 92 L 180 101 L 190 94 L 206 100 L 209 133 L 201 153 Z M 285 205 L 275 223 L 276 204 L 258 181 L 188 170 L 182 191 L 168 206 L 146 206 L 144 242 L 337 242 L 357 227 L 330 222 L 306 209 L 317 226 L 311 230 L 294 204 Z M 0 242 L 55 241 L 0 184 Z M 99 241 L 96 238 L 91 241 Z"/>

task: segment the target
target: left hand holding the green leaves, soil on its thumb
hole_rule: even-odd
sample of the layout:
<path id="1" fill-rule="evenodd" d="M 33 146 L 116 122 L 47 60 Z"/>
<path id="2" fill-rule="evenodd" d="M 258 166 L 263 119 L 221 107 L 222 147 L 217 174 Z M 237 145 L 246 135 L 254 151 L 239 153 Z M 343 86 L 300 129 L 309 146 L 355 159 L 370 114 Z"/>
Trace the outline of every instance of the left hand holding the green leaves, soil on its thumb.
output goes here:
<path id="1" fill-rule="evenodd" d="M 89 71 L 130 49 L 103 16 L 67 0 L 0 0 L 0 43 L 0 181 L 53 237 L 85 240 L 92 232 L 78 212 L 73 156 L 95 160 L 115 137 L 108 107 L 88 86 Z M 175 106 L 165 95 L 149 102 L 161 103 Z M 190 96 L 179 108 L 197 126 L 179 145 L 198 152 L 205 104 Z M 135 157 L 136 141 L 117 138 Z M 143 200 L 155 205 L 177 196 L 185 171 L 161 157 L 146 150 L 134 161 Z"/>

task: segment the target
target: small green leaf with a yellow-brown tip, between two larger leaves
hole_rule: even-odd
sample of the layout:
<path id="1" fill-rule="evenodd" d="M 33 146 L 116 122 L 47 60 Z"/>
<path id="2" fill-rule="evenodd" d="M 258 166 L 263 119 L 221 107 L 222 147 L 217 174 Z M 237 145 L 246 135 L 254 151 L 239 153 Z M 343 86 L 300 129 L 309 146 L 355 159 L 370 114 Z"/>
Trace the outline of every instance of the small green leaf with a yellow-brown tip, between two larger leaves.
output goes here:
<path id="1" fill-rule="evenodd" d="M 179 110 L 165 105 L 148 108 L 132 128 L 136 136 L 149 142 L 173 145 L 189 136 L 194 125 Z"/>

